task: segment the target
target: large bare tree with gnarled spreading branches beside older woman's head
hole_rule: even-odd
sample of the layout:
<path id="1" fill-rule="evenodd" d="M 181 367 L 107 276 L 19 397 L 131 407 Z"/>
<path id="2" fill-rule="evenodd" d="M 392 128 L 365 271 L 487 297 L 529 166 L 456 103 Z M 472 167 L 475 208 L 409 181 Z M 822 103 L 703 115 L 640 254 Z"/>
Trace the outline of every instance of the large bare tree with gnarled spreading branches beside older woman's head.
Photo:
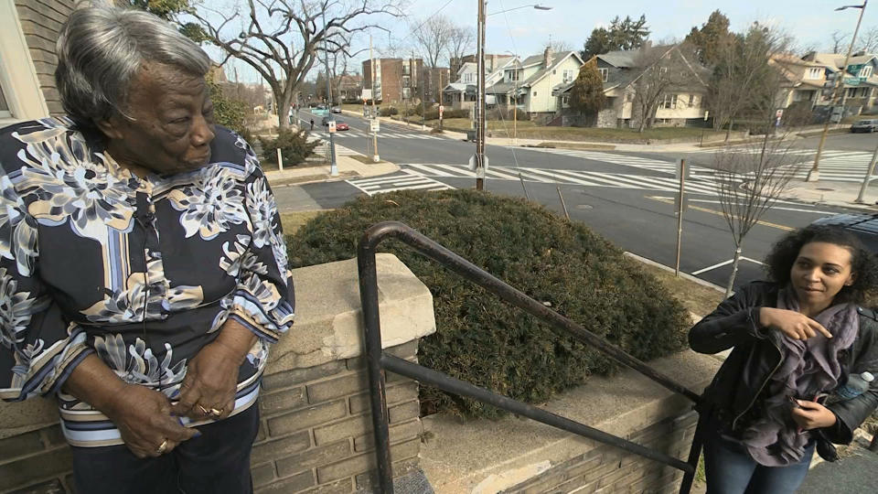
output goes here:
<path id="1" fill-rule="evenodd" d="M 383 29 L 376 24 L 380 15 L 402 16 L 398 5 L 398 0 L 247 0 L 231 12 L 201 4 L 191 15 L 226 59 L 241 59 L 259 72 L 274 93 L 278 124 L 286 127 L 295 90 L 324 47 L 350 56 L 351 38 L 370 27 Z"/>

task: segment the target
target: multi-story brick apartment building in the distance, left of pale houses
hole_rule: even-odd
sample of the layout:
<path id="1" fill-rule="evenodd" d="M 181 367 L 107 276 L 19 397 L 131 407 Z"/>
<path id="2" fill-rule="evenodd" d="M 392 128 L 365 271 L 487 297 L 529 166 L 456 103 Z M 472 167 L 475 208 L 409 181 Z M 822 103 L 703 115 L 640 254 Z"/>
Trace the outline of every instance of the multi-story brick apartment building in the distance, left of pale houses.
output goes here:
<path id="1" fill-rule="evenodd" d="M 420 100 L 423 59 L 375 59 L 375 99 L 380 102 Z M 363 61 L 363 89 L 372 89 L 371 60 Z"/>

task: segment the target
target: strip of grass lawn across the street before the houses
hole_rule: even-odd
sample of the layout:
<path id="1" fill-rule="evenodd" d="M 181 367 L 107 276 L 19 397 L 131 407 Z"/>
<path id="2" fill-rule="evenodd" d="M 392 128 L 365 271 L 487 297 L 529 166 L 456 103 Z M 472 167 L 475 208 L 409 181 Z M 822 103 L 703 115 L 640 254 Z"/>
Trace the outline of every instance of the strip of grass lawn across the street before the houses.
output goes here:
<path id="1" fill-rule="evenodd" d="M 437 126 L 436 120 L 428 121 L 427 124 Z M 445 129 L 457 132 L 470 130 L 470 121 L 466 118 L 446 118 L 443 121 Z M 488 121 L 487 130 L 492 137 L 512 137 L 513 129 L 511 121 Z M 716 133 L 712 129 L 700 129 L 696 127 L 656 127 L 646 129 L 638 133 L 637 129 L 616 129 L 597 127 L 546 127 L 536 125 L 530 121 L 519 121 L 516 124 L 518 137 L 522 139 L 557 139 L 562 141 L 609 141 L 609 142 L 632 142 L 663 139 L 700 139 L 701 133 L 708 138 Z"/>

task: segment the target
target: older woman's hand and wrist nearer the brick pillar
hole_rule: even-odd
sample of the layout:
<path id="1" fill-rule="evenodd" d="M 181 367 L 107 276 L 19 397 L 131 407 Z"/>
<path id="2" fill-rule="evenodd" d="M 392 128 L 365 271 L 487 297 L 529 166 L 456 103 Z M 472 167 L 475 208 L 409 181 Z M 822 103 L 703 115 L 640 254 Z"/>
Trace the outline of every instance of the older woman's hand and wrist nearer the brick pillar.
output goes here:
<path id="1" fill-rule="evenodd" d="M 228 417 L 235 409 L 238 368 L 255 341 L 249 329 L 227 321 L 219 337 L 189 361 L 174 413 L 196 420 Z"/>

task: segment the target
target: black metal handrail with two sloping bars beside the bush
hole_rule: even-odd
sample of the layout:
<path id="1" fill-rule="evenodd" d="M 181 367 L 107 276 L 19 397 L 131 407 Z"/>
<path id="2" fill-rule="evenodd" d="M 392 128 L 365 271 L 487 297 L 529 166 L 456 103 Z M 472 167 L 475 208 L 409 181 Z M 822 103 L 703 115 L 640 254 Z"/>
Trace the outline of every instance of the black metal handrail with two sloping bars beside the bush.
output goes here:
<path id="1" fill-rule="evenodd" d="M 362 303 L 363 320 L 365 324 L 365 353 L 366 365 L 369 374 L 370 403 L 372 409 L 372 425 L 375 435 L 375 455 L 378 460 L 378 474 L 380 491 L 388 494 L 393 493 L 393 477 L 391 472 L 391 451 L 388 431 L 387 400 L 384 391 L 383 369 L 391 370 L 413 380 L 433 385 L 445 392 L 454 392 L 462 396 L 475 399 L 482 403 L 494 405 L 512 413 L 527 416 L 533 420 L 548 424 L 562 430 L 594 439 L 601 443 L 622 448 L 630 453 L 645 456 L 659 461 L 670 467 L 684 472 L 680 493 L 687 494 L 691 488 L 698 457 L 701 455 L 701 439 L 696 426 L 696 434 L 692 440 L 690 455 L 687 461 L 665 455 L 659 451 L 640 446 L 610 435 L 588 425 L 575 422 L 554 413 L 546 412 L 527 403 L 520 403 L 506 396 L 479 388 L 466 381 L 456 380 L 442 372 L 427 369 L 421 365 L 385 354 L 381 349 L 380 315 L 378 305 L 378 273 L 376 269 L 376 247 L 387 238 L 396 238 L 406 243 L 414 250 L 423 253 L 437 263 L 443 264 L 466 280 L 480 285 L 488 292 L 498 295 L 512 306 L 517 306 L 531 315 L 538 317 L 543 322 L 552 325 L 553 329 L 571 335 L 584 343 L 600 349 L 614 360 L 625 364 L 631 369 L 637 370 L 649 379 L 658 382 L 672 392 L 682 394 L 692 402 L 698 403 L 700 395 L 672 380 L 669 376 L 648 367 L 647 364 L 628 355 L 622 349 L 605 341 L 604 338 L 594 335 L 571 319 L 563 317 L 547 306 L 520 292 L 495 276 L 488 274 L 483 269 L 466 259 L 444 248 L 437 242 L 425 237 L 418 231 L 398 221 L 385 221 L 372 225 L 359 240 L 357 253 L 357 265 L 359 269 L 359 297 Z"/>

